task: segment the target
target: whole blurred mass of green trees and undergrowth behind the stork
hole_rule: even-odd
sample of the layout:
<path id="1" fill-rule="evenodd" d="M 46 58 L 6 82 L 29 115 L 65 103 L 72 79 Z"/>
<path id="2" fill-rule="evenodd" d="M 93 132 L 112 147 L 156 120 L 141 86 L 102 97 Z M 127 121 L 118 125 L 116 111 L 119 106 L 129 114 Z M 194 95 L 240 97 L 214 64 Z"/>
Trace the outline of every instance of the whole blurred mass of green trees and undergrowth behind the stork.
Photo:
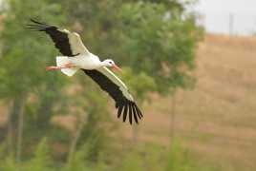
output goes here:
<path id="1" fill-rule="evenodd" d="M 203 31 L 195 24 L 196 15 L 186 11 L 189 4 L 177 0 L 3 2 L 0 100 L 8 106 L 9 120 L 0 135 L 0 169 L 198 168 L 180 147 L 166 152 L 158 145 L 136 143 L 136 125 L 135 142 L 130 145 L 118 131 L 114 104 L 107 95 L 82 72 L 72 79 L 46 72 L 45 66 L 53 65 L 59 52 L 50 38 L 25 27 L 33 18 L 78 32 L 90 51 L 124 68 L 119 76 L 143 108 L 149 92 L 169 95 L 195 83 L 191 70 Z M 67 124 L 54 122 L 59 116 L 72 119 Z"/>

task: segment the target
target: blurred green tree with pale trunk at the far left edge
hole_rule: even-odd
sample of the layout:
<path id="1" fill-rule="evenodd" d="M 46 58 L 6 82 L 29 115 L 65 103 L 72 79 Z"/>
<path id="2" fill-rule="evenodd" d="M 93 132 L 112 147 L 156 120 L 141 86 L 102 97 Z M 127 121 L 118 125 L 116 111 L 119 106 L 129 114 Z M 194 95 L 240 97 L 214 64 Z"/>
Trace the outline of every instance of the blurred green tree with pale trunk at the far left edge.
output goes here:
<path id="1" fill-rule="evenodd" d="M 33 108 L 29 97 L 36 97 L 39 107 L 36 115 L 39 123 L 48 123 L 56 98 L 64 80 L 55 73 L 46 73 L 44 67 L 53 62 L 53 45 L 44 43 L 45 38 L 36 36 L 27 29 L 29 18 L 42 16 L 52 22 L 63 21 L 59 5 L 39 0 L 9 0 L 3 9 L 6 18 L 1 31 L 0 59 L 0 98 L 10 102 L 9 137 L 10 149 L 16 149 L 17 161 L 20 159 L 23 124 L 28 108 Z M 54 84 L 53 84 L 54 83 Z M 31 110 L 32 111 L 32 110 Z M 40 113 L 39 113 L 40 112 Z M 26 114 L 26 117 L 25 115 Z M 43 117 L 41 117 L 43 116 Z M 46 117 L 47 116 L 47 117 Z M 25 119 L 24 119 L 25 117 Z M 26 124 L 25 126 L 30 126 Z M 40 127 L 40 129 L 43 127 Z M 38 130 L 38 129 L 31 129 Z M 38 135 L 38 134 L 34 134 Z M 15 144 L 14 142 L 17 142 Z M 16 148 L 14 148 L 16 146 Z"/>

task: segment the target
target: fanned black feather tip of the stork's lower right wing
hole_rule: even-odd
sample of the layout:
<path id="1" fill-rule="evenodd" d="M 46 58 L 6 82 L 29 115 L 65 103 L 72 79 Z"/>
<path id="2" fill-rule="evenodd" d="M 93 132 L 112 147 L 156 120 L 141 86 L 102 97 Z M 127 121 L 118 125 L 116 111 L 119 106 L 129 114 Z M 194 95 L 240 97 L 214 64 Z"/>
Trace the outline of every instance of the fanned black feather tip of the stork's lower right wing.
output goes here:
<path id="1" fill-rule="evenodd" d="M 122 122 L 125 123 L 128 118 L 129 123 L 132 125 L 133 123 L 139 124 L 139 120 L 142 120 L 143 115 L 139 110 L 139 107 L 136 103 L 127 101 L 123 104 L 117 104 L 117 118 L 120 118 L 122 115 Z M 128 115 L 128 117 L 127 117 Z M 134 120 L 134 122 L 133 122 Z"/>

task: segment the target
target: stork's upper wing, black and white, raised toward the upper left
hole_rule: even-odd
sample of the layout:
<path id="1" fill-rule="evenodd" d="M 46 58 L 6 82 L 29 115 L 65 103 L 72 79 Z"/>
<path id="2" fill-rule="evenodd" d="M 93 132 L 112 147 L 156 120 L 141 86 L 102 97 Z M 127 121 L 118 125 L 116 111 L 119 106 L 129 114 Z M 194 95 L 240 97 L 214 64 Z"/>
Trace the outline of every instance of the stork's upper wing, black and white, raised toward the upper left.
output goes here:
<path id="1" fill-rule="evenodd" d="M 83 45 L 79 34 L 70 32 L 67 29 L 57 28 L 35 20 L 28 28 L 38 31 L 45 31 L 52 38 L 55 47 L 65 56 L 75 56 L 78 54 L 89 54 L 89 50 Z"/>

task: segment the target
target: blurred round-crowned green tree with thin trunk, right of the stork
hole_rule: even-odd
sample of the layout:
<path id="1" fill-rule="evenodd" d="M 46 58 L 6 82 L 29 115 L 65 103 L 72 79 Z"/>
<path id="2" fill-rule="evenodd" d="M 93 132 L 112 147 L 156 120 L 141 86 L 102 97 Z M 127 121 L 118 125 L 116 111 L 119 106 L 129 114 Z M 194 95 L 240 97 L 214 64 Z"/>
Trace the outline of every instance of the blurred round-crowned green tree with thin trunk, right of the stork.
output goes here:
<path id="1" fill-rule="evenodd" d="M 174 2 L 174 1 L 172 1 Z M 162 95 L 174 95 L 178 88 L 189 88 L 195 83 L 195 49 L 201 40 L 202 29 L 196 26 L 195 15 L 187 13 L 184 5 L 159 3 L 127 3 L 121 7 L 121 38 L 124 63 L 135 72 L 143 70 L 154 79 Z M 168 4 L 168 3 L 167 3 Z M 175 123 L 175 96 L 171 104 L 170 137 Z"/>

